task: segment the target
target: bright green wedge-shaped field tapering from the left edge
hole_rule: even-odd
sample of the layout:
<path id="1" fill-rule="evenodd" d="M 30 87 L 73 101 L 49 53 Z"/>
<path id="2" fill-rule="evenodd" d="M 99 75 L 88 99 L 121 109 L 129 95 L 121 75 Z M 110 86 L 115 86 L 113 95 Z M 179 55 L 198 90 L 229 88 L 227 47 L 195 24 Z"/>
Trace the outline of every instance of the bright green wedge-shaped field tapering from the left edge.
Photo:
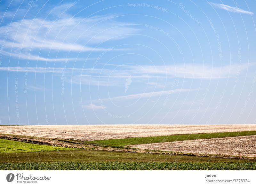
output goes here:
<path id="1" fill-rule="evenodd" d="M 33 143 L 25 143 L 7 139 L 0 139 L 0 153 L 12 152 L 42 152 L 42 151 L 61 151 L 70 150 L 66 147 L 56 147 L 50 145 L 39 145 Z"/>

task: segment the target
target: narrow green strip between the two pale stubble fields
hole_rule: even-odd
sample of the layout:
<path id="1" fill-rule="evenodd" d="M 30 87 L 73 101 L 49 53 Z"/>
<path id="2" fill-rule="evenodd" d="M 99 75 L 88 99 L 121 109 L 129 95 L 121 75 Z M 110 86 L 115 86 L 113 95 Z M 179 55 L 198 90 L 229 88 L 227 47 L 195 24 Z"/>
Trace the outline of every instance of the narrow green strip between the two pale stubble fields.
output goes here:
<path id="1" fill-rule="evenodd" d="M 154 137 L 134 137 L 124 139 L 108 139 L 108 140 L 95 140 L 86 143 L 102 146 L 122 147 L 125 145 L 136 145 L 146 143 L 163 143 L 195 139 L 210 139 L 222 137 L 236 137 L 236 136 L 252 136 L 256 135 L 256 131 L 242 131 L 242 132 L 221 132 L 221 133 L 206 133 L 206 134 L 183 134 L 171 136 L 154 136 Z"/>

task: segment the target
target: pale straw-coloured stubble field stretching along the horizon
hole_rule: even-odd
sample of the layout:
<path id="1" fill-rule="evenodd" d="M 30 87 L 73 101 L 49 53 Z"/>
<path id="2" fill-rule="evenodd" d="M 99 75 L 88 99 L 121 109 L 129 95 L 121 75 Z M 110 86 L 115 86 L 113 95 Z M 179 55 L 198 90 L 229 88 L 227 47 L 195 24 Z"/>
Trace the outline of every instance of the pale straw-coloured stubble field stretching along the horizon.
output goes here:
<path id="1" fill-rule="evenodd" d="M 256 125 L 30 125 L 0 126 L 0 134 L 102 140 L 256 130 Z"/>

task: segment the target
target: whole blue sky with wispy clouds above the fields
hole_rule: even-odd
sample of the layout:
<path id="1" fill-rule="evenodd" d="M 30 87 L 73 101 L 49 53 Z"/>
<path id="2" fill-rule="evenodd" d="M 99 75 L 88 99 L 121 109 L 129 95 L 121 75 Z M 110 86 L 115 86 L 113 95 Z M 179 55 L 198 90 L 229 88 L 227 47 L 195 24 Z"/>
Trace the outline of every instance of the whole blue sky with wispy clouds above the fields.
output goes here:
<path id="1" fill-rule="evenodd" d="M 0 122 L 255 123 L 255 8 L 0 1 Z"/>

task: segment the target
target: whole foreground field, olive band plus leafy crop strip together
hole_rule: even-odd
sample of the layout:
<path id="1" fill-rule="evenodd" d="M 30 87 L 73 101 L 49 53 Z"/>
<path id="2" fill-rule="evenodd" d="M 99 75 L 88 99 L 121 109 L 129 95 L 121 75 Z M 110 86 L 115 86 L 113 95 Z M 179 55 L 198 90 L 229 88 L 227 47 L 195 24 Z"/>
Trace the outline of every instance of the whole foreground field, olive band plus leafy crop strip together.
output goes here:
<path id="1" fill-rule="evenodd" d="M 0 170 L 255 170 L 253 159 L 70 150 L 0 154 Z"/>

